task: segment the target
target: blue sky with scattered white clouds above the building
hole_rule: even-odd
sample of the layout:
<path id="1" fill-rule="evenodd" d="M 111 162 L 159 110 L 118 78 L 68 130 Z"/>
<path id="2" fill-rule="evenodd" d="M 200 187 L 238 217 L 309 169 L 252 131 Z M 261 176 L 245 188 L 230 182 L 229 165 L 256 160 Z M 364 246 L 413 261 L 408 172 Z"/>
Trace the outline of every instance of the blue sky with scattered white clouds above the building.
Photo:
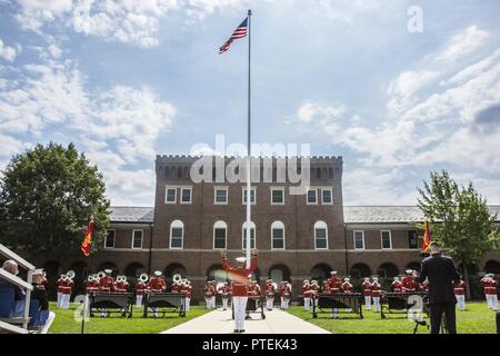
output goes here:
<path id="1" fill-rule="evenodd" d="M 422 32 L 408 9 L 422 10 Z M 343 156 L 349 205 L 416 202 L 430 169 L 500 202 L 500 2 L 0 0 L 0 169 L 74 141 L 114 205 L 153 202 L 156 154 L 253 140 Z"/>

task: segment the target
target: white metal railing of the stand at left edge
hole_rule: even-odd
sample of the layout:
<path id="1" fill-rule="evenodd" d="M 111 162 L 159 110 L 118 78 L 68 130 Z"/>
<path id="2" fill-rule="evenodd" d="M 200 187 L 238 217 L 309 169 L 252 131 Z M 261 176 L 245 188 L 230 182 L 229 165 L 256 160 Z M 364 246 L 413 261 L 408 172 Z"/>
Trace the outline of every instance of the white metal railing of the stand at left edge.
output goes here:
<path id="1" fill-rule="evenodd" d="M 30 322 L 30 300 L 31 300 L 31 290 L 33 290 L 32 281 L 33 281 L 33 271 L 34 266 L 31 265 L 29 261 L 27 261 L 24 258 L 19 256 L 18 254 L 13 253 L 2 244 L 0 244 L 0 255 L 6 257 L 7 259 L 14 260 L 19 267 L 22 267 L 27 269 L 27 279 L 23 280 L 7 270 L 0 268 L 0 278 L 3 278 L 11 284 L 18 286 L 19 288 L 22 288 L 26 290 L 26 299 L 24 299 L 24 313 L 22 316 L 22 327 L 19 327 L 12 323 L 9 323 L 9 319 L 0 320 L 0 329 L 4 329 L 7 332 L 11 333 L 20 333 L 26 334 L 28 333 L 28 324 Z"/>

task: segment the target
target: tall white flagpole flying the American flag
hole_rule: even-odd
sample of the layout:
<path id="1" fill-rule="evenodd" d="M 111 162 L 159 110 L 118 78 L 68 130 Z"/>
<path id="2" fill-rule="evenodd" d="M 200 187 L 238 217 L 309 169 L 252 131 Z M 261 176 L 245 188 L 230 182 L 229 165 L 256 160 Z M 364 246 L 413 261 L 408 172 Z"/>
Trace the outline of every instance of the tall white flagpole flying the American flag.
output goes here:
<path id="1" fill-rule="evenodd" d="M 248 137 L 247 137 L 247 267 L 250 267 L 250 248 L 251 248 L 251 101 L 250 101 L 250 65 L 251 65 L 251 16 L 252 10 L 248 10 Z"/>

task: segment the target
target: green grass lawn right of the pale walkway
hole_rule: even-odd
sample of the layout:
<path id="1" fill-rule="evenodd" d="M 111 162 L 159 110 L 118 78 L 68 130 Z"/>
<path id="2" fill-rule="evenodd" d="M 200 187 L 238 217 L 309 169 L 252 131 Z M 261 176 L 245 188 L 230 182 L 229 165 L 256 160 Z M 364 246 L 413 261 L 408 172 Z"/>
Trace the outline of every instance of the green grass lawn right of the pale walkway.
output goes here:
<path id="1" fill-rule="evenodd" d="M 329 312 L 318 314 L 318 318 L 312 318 L 311 312 L 304 312 L 303 307 L 292 306 L 289 313 L 309 323 L 318 325 L 334 334 L 411 334 L 414 323 L 406 318 L 394 319 L 388 315 L 386 319 L 380 317 L 380 313 L 363 309 L 363 319 L 356 318 L 354 315 L 346 316 L 343 319 L 330 319 Z M 403 315 L 398 315 L 401 317 Z M 467 310 L 457 310 L 457 333 L 460 334 L 494 334 L 496 314 L 487 308 L 484 301 L 467 303 Z M 430 323 L 426 318 L 428 324 Z M 428 334 L 424 326 L 419 326 L 418 334 Z"/>

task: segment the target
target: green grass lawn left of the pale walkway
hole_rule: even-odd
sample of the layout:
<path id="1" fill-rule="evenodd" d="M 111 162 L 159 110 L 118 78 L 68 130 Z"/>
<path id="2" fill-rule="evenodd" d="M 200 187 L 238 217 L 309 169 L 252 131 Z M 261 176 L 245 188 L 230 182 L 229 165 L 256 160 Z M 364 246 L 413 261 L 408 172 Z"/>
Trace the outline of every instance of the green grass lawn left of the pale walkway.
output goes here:
<path id="1" fill-rule="evenodd" d="M 71 304 L 70 309 L 62 310 L 56 308 L 56 303 L 50 304 L 50 309 L 56 313 L 49 333 L 50 334 L 80 334 L 81 323 L 74 320 L 74 312 L 77 304 Z M 120 316 L 111 316 L 100 318 L 99 313 L 97 317 L 90 318 L 84 324 L 86 334 L 156 334 L 174 327 L 179 324 L 186 323 L 203 315 L 208 310 L 202 306 L 191 306 L 188 315 L 184 318 L 178 314 L 167 314 L 164 318 L 142 318 L 142 309 L 133 309 L 133 317 L 122 318 Z"/>

